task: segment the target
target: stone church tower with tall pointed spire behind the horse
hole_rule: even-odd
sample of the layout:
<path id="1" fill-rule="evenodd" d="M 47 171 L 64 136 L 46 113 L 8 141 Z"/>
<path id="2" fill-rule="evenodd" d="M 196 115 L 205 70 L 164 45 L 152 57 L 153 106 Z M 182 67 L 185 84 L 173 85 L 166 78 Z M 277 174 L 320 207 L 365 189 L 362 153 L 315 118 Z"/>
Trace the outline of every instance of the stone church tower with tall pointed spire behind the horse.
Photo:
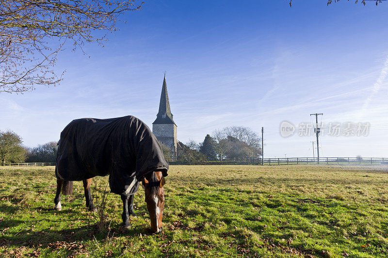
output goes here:
<path id="1" fill-rule="evenodd" d="M 152 133 L 162 144 L 171 149 L 171 156 L 177 156 L 177 125 L 173 120 L 168 100 L 166 74 L 164 74 L 161 101 L 156 120 L 152 123 Z"/>

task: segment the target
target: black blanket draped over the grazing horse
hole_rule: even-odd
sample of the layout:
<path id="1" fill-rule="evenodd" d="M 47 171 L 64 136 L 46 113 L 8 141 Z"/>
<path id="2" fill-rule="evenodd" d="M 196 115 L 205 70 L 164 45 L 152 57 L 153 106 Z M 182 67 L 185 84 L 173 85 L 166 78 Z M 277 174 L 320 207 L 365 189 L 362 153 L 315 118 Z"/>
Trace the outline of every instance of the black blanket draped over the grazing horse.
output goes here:
<path id="1" fill-rule="evenodd" d="M 130 195 L 137 192 L 142 177 L 156 170 L 167 176 L 162 147 L 134 116 L 76 119 L 61 132 L 55 169 L 59 179 L 109 175 L 111 193 Z"/>

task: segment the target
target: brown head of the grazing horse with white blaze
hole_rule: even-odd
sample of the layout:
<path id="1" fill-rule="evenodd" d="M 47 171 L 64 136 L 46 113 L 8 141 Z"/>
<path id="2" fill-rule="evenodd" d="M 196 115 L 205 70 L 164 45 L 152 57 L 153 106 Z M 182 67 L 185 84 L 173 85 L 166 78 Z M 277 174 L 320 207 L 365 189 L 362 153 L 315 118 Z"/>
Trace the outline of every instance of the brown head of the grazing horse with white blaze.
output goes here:
<path id="1" fill-rule="evenodd" d="M 161 171 L 155 171 L 143 178 L 142 184 L 146 192 L 146 203 L 151 219 L 151 228 L 155 233 L 162 232 L 162 216 L 164 208 L 164 183 Z"/>

